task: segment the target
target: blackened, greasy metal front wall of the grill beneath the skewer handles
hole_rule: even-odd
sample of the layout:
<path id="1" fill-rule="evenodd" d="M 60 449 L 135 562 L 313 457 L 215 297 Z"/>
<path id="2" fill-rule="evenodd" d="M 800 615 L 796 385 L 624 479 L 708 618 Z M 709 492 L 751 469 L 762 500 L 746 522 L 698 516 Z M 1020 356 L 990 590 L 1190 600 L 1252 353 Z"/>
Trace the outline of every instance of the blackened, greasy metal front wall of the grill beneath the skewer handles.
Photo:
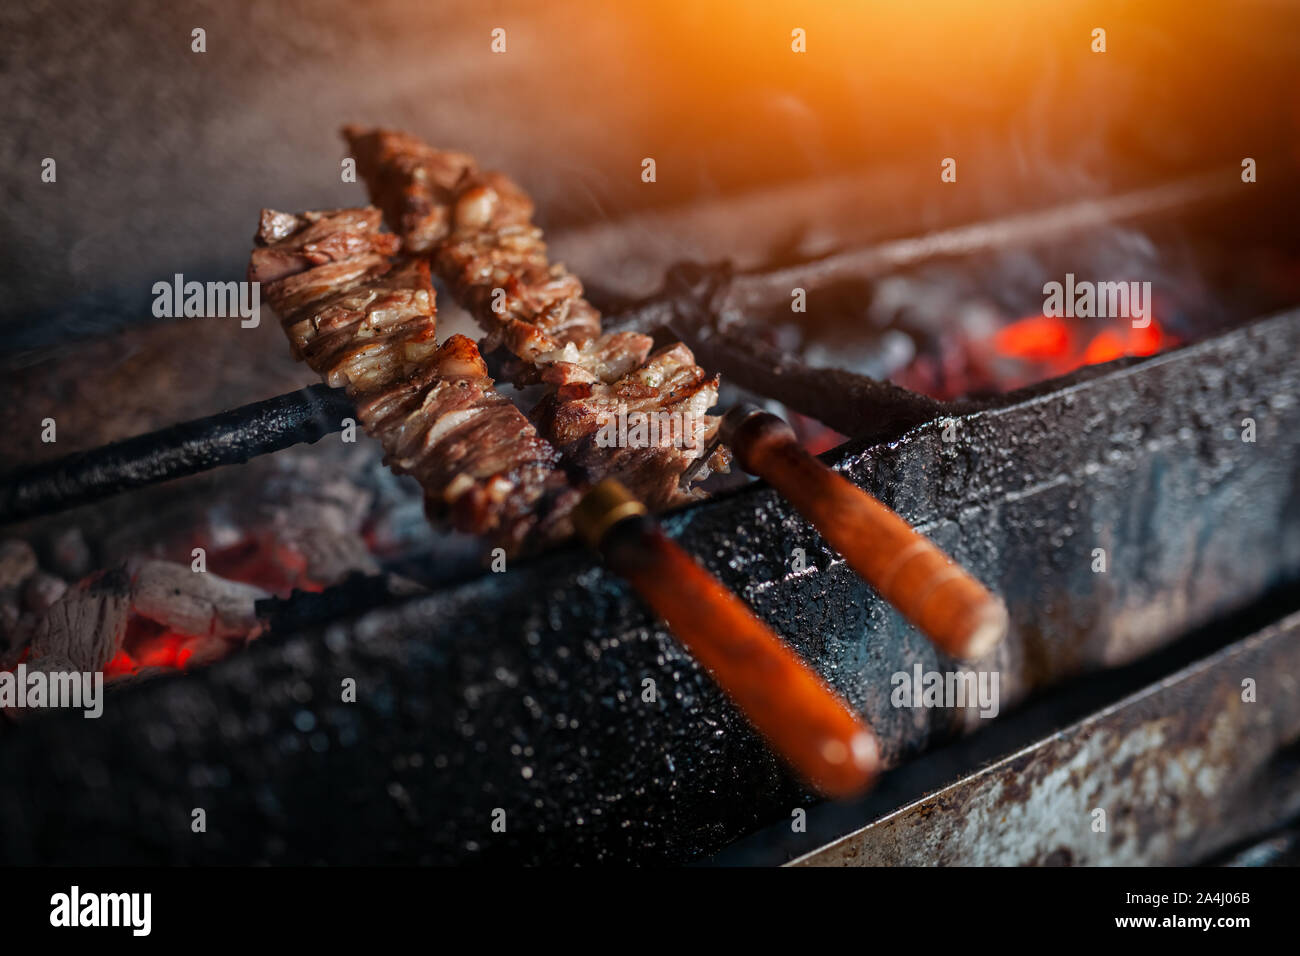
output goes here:
<path id="1" fill-rule="evenodd" d="M 1297 347 L 1283 313 L 961 414 L 956 442 L 941 415 L 836 460 L 1006 597 L 1006 709 L 1300 578 Z M 667 524 L 867 714 L 890 765 L 958 730 L 889 706 L 889 675 L 935 652 L 770 490 Z M 788 570 L 794 548 L 811 571 Z M 32 721 L 0 743 L 0 775 L 22 782 L 0 795 L 16 862 L 684 861 L 807 800 L 577 550 L 257 641 L 100 721 Z"/>

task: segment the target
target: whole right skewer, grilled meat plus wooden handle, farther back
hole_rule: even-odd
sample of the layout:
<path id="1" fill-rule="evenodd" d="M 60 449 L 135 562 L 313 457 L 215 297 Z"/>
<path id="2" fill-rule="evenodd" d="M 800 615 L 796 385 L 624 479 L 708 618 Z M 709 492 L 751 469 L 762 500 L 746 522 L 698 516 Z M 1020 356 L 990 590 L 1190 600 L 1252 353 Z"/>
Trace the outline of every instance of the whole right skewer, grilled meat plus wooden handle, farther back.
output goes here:
<path id="1" fill-rule="evenodd" d="M 547 265 L 532 203 L 510 179 L 403 133 L 347 127 L 344 137 L 393 228 L 432 256 L 458 299 L 489 329 L 489 341 L 537 364 L 542 380 L 556 386 L 533 419 L 593 483 L 620 479 L 636 497 L 662 507 L 689 494 L 715 450 L 738 441 L 745 468 L 810 515 L 850 566 L 936 645 L 957 657 L 979 657 L 1001 640 L 1002 604 L 906 522 L 803 453 L 784 423 L 737 408 L 728 419 L 748 418 L 749 427 L 719 434 L 719 419 L 706 418 L 716 380 L 706 380 L 684 345 L 611 380 L 610 364 L 597 356 L 614 337 L 597 334 L 599 315 L 581 298 L 577 278 Z M 582 333 L 593 338 L 582 342 Z M 555 358 L 559 341 L 564 360 Z M 705 423 L 692 437 L 708 445 L 679 455 L 656 446 L 601 447 L 599 424 L 611 408 L 677 411 L 684 423 Z M 676 477 L 680 488 L 670 484 Z"/>

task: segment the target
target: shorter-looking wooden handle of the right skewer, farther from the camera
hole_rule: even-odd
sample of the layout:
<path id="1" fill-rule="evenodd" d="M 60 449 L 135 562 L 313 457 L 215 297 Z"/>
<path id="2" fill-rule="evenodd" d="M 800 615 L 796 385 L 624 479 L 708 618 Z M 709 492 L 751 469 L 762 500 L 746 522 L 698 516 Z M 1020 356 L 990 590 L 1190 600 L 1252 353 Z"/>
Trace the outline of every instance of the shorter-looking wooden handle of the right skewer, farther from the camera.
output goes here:
<path id="1" fill-rule="evenodd" d="M 1008 615 L 1000 598 L 907 522 L 805 451 L 780 418 L 755 407 L 737 411 L 731 428 L 724 421 L 723 440 L 740 466 L 785 496 L 933 644 L 971 659 L 1002 640 Z"/>

